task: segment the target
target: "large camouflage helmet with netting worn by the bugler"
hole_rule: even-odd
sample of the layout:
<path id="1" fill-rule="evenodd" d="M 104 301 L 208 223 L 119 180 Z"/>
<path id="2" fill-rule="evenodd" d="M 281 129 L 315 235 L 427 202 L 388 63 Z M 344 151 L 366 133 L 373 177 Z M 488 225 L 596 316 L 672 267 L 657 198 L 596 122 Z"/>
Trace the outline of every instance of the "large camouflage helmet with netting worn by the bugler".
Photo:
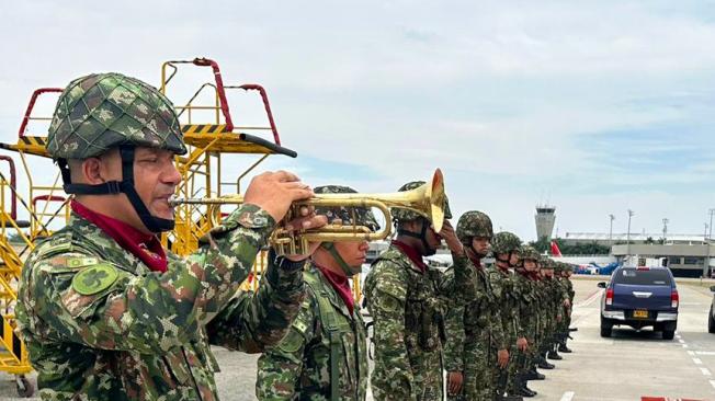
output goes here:
<path id="1" fill-rule="evenodd" d="M 186 152 L 171 102 L 154 87 L 116 72 L 70 82 L 47 134 L 54 159 L 87 159 L 121 145 Z"/>

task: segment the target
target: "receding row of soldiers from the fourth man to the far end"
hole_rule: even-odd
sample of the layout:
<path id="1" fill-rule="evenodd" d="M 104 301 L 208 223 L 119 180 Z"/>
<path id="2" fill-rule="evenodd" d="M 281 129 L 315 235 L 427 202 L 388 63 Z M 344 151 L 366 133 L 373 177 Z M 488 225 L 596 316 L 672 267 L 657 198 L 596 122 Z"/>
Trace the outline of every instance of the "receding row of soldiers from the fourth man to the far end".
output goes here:
<path id="1" fill-rule="evenodd" d="M 446 314 L 449 399 L 534 397 L 526 381 L 544 379 L 536 367 L 553 369 L 547 358 L 571 352 L 566 345 L 575 295 L 571 267 L 522 245 L 511 232 L 492 238 L 491 221 L 480 211 L 462 216 L 457 236 L 474 243 L 468 253 L 480 287 L 477 299 L 452 302 Z M 485 268 L 489 240 L 495 264 Z"/>

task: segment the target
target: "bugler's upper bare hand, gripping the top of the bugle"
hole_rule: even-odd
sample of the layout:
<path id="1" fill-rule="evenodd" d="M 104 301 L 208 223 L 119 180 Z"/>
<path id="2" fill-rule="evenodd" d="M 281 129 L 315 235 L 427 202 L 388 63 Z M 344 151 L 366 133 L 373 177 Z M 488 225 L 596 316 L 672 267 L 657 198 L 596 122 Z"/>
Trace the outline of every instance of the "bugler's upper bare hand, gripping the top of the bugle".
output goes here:
<path id="1" fill-rule="evenodd" d="M 295 200 L 307 199 L 313 190 L 287 171 L 265 172 L 251 180 L 243 203 L 257 205 L 281 221 Z"/>

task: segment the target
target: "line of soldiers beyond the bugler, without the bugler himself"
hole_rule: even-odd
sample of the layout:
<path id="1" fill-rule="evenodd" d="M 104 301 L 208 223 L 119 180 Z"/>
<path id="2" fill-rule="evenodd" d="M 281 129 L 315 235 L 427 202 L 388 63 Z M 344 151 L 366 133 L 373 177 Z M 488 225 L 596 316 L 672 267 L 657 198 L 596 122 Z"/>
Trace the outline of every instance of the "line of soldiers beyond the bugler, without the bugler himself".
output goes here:
<path id="1" fill-rule="evenodd" d="M 411 182 L 399 191 L 421 184 Z M 451 218 L 449 205 L 445 209 Z M 342 208 L 318 211 L 341 221 L 376 225 L 368 210 L 358 219 Z M 393 209 L 391 215 L 397 238 L 373 263 L 364 286 L 374 323 L 374 399 L 443 400 L 444 370 L 449 400 L 535 396 L 526 381 L 544 379 L 536 367 L 553 369 L 547 358 L 570 352 L 569 266 L 522 245 L 513 233 L 493 236 L 481 211 L 465 213 L 455 231 L 445 220 L 446 230 L 440 233 L 415 211 Z M 454 260 L 445 273 L 422 261 L 442 238 Z M 481 260 L 490 248 L 495 264 L 486 268 Z M 353 267 L 352 274 L 358 271 Z M 334 286 L 320 279 L 325 273 L 325 267 L 309 265 L 309 297 L 294 329 L 259 358 L 259 399 L 365 398 L 367 355 L 360 306 L 349 302 L 345 310 Z"/>

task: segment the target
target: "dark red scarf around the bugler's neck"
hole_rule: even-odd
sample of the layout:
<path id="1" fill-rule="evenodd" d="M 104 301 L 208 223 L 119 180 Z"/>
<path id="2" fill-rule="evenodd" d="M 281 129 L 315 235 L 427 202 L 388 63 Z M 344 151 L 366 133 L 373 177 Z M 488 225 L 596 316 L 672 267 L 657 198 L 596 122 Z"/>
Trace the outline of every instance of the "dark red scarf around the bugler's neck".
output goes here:
<path id="1" fill-rule="evenodd" d="M 124 221 L 91 210 L 79 202 L 72 200 L 71 207 L 72 211 L 112 237 L 122 249 L 135 255 L 152 272 L 167 271 L 167 253 L 157 236 L 141 232 Z"/>

